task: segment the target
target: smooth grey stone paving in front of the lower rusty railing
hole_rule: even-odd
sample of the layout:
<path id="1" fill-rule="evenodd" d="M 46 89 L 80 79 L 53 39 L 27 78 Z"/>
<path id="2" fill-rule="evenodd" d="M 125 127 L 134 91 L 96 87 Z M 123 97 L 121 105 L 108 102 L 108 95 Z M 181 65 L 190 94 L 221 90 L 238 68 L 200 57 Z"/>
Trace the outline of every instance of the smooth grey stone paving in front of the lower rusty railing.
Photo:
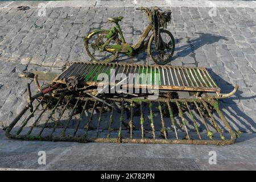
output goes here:
<path id="1" fill-rule="evenodd" d="M 230 146 L 35 142 L 7 139 L 0 130 L 0 170 L 256 170 L 256 134 Z M 39 151 L 46 165 L 39 165 Z M 209 164 L 210 151 L 216 164 Z"/>

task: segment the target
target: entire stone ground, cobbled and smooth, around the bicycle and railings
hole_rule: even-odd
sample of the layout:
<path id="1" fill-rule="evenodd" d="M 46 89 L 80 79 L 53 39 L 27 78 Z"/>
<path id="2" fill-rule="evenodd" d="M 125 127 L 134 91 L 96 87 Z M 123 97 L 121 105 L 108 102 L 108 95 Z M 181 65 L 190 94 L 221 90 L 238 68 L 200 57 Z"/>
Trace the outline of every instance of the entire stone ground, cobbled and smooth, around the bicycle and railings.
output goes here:
<path id="1" fill-rule="evenodd" d="M 18 11 L 20 5 L 31 9 Z M 107 23 L 110 16 L 125 17 L 121 23 L 125 38 L 135 43 L 148 23 L 135 7 L 154 5 L 172 10 L 173 24 L 167 29 L 174 34 L 176 51 L 170 64 L 208 68 L 222 92 L 240 86 L 235 96 L 221 101 L 230 125 L 243 131 L 238 143 L 26 142 L 7 139 L 1 130 L 0 168 L 256 169 L 255 1 L 0 2 L 0 127 L 9 125 L 26 102 L 28 80 L 18 78 L 18 73 L 61 72 L 65 63 L 88 60 L 82 39 L 92 28 L 112 26 Z M 39 11 L 45 16 L 39 16 Z M 126 61 L 146 63 L 146 52 Z M 46 151 L 46 166 L 38 165 L 40 150 Z M 216 151 L 216 165 L 209 165 L 209 151 Z"/>

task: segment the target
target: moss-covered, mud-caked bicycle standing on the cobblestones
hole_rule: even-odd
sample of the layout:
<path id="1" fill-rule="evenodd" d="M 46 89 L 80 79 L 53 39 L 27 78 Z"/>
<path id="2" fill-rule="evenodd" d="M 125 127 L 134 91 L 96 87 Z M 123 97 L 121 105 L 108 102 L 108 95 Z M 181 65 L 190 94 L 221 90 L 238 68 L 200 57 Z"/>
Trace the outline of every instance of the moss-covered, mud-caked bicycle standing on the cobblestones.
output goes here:
<path id="1" fill-rule="evenodd" d="M 162 11 L 156 6 L 152 9 L 140 7 L 136 10 L 144 11 L 150 19 L 138 42 L 134 45 L 126 43 L 118 24 L 123 16 L 108 18 L 108 22 L 115 23 L 114 27 L 110 30 L 93 30 L 85 37 L 85 49 L 92 61 L 108 63 L 117 59 L 119 53 L 134 56 L 146 48 L 148 57 L 156 64 L 163 65 L 171 61 L 175 40 L 171 32 L 164 29 L 171 22 L 171 11 Z M 150 32 L 152 32 L 151 35 Z"/>

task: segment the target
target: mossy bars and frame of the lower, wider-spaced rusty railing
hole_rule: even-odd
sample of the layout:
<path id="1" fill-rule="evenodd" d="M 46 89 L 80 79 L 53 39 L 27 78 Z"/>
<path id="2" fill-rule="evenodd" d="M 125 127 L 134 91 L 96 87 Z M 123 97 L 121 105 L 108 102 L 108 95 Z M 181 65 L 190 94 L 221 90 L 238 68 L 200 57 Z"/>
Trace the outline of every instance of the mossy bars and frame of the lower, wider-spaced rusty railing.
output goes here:
<path id="1" fill-rule="evenodd" d="M 72 99 L 72 100 L 71 100 Z M 234 133 L 232 127 L 230 127 L 228 121 L 226 120 L 224 114 L 222 114 L 222 111 L 220 109 L 220 107 L 218 106 L 218 100 L 214 99 L 214 98 L 182 98 L 182 99 L 168 99 L 168 100 L 164 100 L 164 99 L 158 99 L 158 100 L 146 100 L 146 99 L 125 99 L 125 98 L 108 98 L 106 99 L 106 101 L 111 102 L 112 105 L 119 105 L 121 107 L 119 108 L 119 111 L 121 113 L 118 121 L 113 121 L 113 112 L 114 110 L 116 110 L 116 107 L 112 107 L 112 109 L 110 110 L 110 116 L 108 118 L 108 122 L 109 122 L 109 127 L 108 127 L 108 132 L 105 132 L 105 137 L 99 137 L 99 127 L 100 127 L 100 123 L 102 121 L 102 110 L 103 110 L 103 105 L 101 106 L 101 110 L 100 112 L 97 114 L 97 119 L 98 119 L 98 124 L 97 124 L 97 129 L 91 130 L 90 129 L 90 124 L 92 123 L 92 119 L 94 117 L 93 113 L 96 109 L 96 106 L 98 104 L 101 104 L 100 102 L 98 102 L 97 100 L 94 100 L 94 98 L 89 98 L 89 97 L 70 97 L 68 98 L 68 96 L 64 97 L 60 97 L 57 98 L 55 105 L 51 108 L 51 109 L 47 109 L 47 106 L 49 105 L 50 102 L 46 102 L 48 101 L 48 98 L 46 97 L 42 97 L 39 101 L 34 100 L 32 102 L 33 105 L 33 109 L 31 109 L 30 105 L 26 105 L 24 107 L 24 109 L 17 115 L 17 117 L 13 120 L 13 122 L 11 122 L 11 124 L 9 125 L 9 127 L 7 127 L 6 129 L 6 136 L 8 138 L 13 138 L 13 139 L 23 139 L 23 140 L 46 140 L 46 141 L 69 141 L 69 142 L 110 142 L 110 143 L 166 143 L 166 144 L 233 144 L 236 141 L 236 133 Z M 73 102 L 72 108 L 71 109 L 67 109 L 68 107 L 71 107 L 71 101 Z M 42 104 L 42 102 L 46 102 L 47 104 L 44 104 L 42 109 L 39 109 L 39 106 Z M 77 107 L 79 107 L 78 103 L 82 102 L 82 109 L 80 113 L 76 113 L 76 109 Z M 89 104 L 89 102 L 93 102 L 92 107 L 90 107 L 90 111 L 88 111 L 90 113 L 88 120 L 86 121 L 85 125 L 82 126 L 83 129 L 83 134 L 82 135 L 77 135 L 77 132 L 79 130 L 80 124 L 81 124 L 81 119 L 79 119 L 76 123 L 76 127 L 75 130 L 73 131 L 72 135 L 67 135 L 65 134 L 68 130 L 68 125 L 71 122 L 72 118 L 75 117 L 77 114 L 80 115 L 79 118 L 82 118 L 82 114 L 84 114 L 84 112 L 86 111 L 86 105 Z M 158 109 L 159 109 L 159 115 L 160 115 L 160 124 L 162 126 L 162 139 L 159 139 L 156 137 L 156 130 L 155 130 L 155 123 L 154 123 L 154 112 L 152 111 L 152 105 L 151 104 L 158 104 Z M 74 105 L 75 104 L 75 105 Z M 130 104 L 130 120 L 129 120 L 129 126 L 127 127 L 129 129 L 127 130 L 123 130 L 123 115 L 125 114 L 125 104 Z M 140 119 L 139 121 L 135 121 L 133 120 L 133 113 L 134 111 L 132 110 L 133 104 L 138 104 L 139 105 L 139 112 L 140 112 Z M 199 112 L 199 115 L 201 117 L 201 120 L 197 120 L 195 119 L 193 113 L 192 113 L 192 109 L 191 109 L 191 104 L 195 104 L 197 111 Z M 81 104 L 80 104 L 81 105 Z M 200 106 L 201 107 L 200 107 Z M 127 105 L 126 105 L 127 106 Z M 168 114 L 169 117 L 164 117 L 163 114 L 163 106 L 167 106 L 168 107 Z M 178 109 L 178 113 L 179 113 L 179 123 L 177 123 L 175 117 L 174 117 L 174 107 L 176 106 Z M 203 107 L 202 107 L 203 106 Z M 53 114 L 55 113 L 56 109 L 58 107 L 61 107 L 61 112 L 59 115 L 59 118 L 53 118 Z M 143 108 L 144 107 L 148 107 L 150 110 L 150 121 L 151 121 L 151 129 L 146 129 L 144 126 L 144 118 L 146 118 L 146 115 L 144 115 L 143 113 Z M 182 107 L 187 107 L 187 112 L 189 113 L 188 115 L 190 115 L 189 121 L 193 123 L 193 126 L 195 127 L 195 132 L 192 134 L 196 134 L 193 135 L 194 137 L 190 137 L 191 133 L 190 131 L 187 129 L 187 125 L 188 125 L 188 119 L 185 118 L 184 116 L 184 110 L 182 109 Z M 218 123 L 216 122 L 216 115 L 213 116 L 213 113 L 210 111 L 210 108 L 212 107 L 212 110 L 215 111 L 215 114 L 218 116 L 218 118 L 221 121 L 222 126 L 225 126 L 225 130 L 228 131 L 229 134 L 229 139 L 227 139 L 226 137 L 224 137 L 224 133 L 221 129 L 221 126 L 218 125 Z M 209 121 L 207 122 L 207 118 L 204 117 L 203 115 L 203 110 L 207 111 L 208 113 L 208 119 L 209 121 L 211 121 L 211 123 L 209 123 Z M 127 108 L 126 108 L 127 109 Z M 39 122 L 39 118 L 42 118 L 42 115 L 44 113 L 46 113 L 46 111 L 48 112 L 48 116 L 44 117 L 46 118 L 45 121 L 41 124 L 41 127 L 36 127 L 37 123 Z M 61 121 L 61 117 L 63 116 L 65 111 L 69 110 L 69 116 L 68 116 L 68 120 L 65 121 L 65 125 L 63 127 L 61 127 L 61 135 L 59 136 L 55 136 L 55 131 L 56 129 L 59 130 L 58 127 L 58 123 Z M 36 111 L 39 112 L 39 114 L 35 114 Z M 19 127 L 15 127 L 15 125 L 20 122 L 20 118 L 22 118 L 22 115 L 25 114 L 26 112 L 30 112 L 30 114 L 21 122 L 21 126 Z M 32 123 L 29 130 L 26 131 L 26 134 L 22 134 L 22 131 L 24 129 L 24 127 L 27 126 L 27 124 L 29 123 L 30 119 L 34 118 L 35 120 Z M 166 130 L 166 126 L 164 122 L 164 119 L 168 119 L 168 122 L 171 123 L 172 126 L 172 130 L 171 131 L 167 131 Z M 52 127 L 48 126 L 49 121 L 53 121 L 53 123 L 55 124 Z M 138 119 L 137 119 L 138 120 Z M 133 137 L 133 131 L 135 131 L 135 129 L 131 126 L 133 126 L 133 124 L 137 122 L 140 123 L 139 128 L 137 128 L 137 131 L 140 132 L 141 137 Z M 119 130 L 115 131 L 115 136 L 112 136 L 112 133 L 114 131 L 112 131 L 112 125 L 113 123 L 119 123 Z M 204 125 L 206 130 L 207 130 L 207 136 L 208 139 L 203 139 L 201 137 L 201 131 L 198 130 L 198 124 L 200 123 L 200 125 Z M 185 138 L 180 138 L 178 136 L 178 132 L 177 132 L 177 127 L 181 124 L 181 128 L 183 131 L 181 131 L 181 133 L 184 135 L 185 134 Z M 212 126 L 212 128 L 215 130 L 214 132 L 210 129 L 210 125 Z M 32 130 L 36 128 L 39 129 L 39 134 L 37 135 L 31 135 Z M 80 127 L 81 128 L 81 127 Z M 48 135 L 43 135 L 44 130 L 51 130 L 50 132 L 48 132 Z M 15 130 L 15 133 L 12 133 Z M 129 136 L 126 134 L 126 137 L 123 137 L 123 132 L 128 131 Z M 90 135 L 92 135 L 91 133 L 94 132 L 96 137 L 90 137 Z M 88 134 L 90 133 L 90 135 Z M 118 133 L 118 134 L 117 134 Z M 147 133 L 147 134 L 146 134 Z M 151 137 L 148 137 L 148 134 L 150 133 Z M 169 133 L 169 137 L 168 137 L 168 133 Z M 172 135 L 170 135 L 170 133 L 172 133 Z M 179 133 L 179 134 L 181 134 Z M 221 139 L 214 139 L 211 137 L 211 135 L 214 133 L 214 135 L 220 135 Z M 127 137 L 128 136 L 128 137 Z M 147 137 L 146 137 L 147 136 Z"/>

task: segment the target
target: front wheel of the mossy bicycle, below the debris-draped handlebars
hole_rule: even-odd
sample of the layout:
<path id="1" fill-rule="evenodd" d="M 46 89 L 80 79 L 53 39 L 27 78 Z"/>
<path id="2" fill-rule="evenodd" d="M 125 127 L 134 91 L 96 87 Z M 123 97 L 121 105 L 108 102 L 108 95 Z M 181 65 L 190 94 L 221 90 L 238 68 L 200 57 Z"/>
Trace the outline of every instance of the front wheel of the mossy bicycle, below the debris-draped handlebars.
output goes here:
<path id="1" fill-rule="evenodd" d="M 169 63 L 174 55 L 175 40 L 170 31 L 163 29 L 159 32 L 159 39 L 160 46 L 156 49 L 154 34 L 151 35 L 148 41 L 147 53 L 156 64 L 163 65 Z"/>

